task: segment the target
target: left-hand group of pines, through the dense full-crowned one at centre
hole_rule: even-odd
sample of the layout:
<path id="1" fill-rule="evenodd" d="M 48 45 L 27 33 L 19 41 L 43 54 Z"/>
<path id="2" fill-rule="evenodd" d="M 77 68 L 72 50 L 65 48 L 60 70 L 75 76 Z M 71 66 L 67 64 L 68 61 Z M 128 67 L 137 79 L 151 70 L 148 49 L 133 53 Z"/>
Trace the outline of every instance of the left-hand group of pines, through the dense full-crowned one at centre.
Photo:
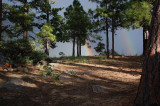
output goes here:
<path id="1" fill-rule="evenodd" d="M 56 42 L 73 41 L 73 56 L 77 43 L 77 56 L 85 44 L 90 29 L 88 14 L 78 0 L 66 8 L 64 17 L 58 14 L 62 8 L 54 8 L 54 0 L 8 0 L 1 1 L 0 38 L 38 39 L 49 55 L 49 48 Z M 2 24 L 3 23 L 3 24 Z M 37 29 L 40 32 L 35 32 Z"/>

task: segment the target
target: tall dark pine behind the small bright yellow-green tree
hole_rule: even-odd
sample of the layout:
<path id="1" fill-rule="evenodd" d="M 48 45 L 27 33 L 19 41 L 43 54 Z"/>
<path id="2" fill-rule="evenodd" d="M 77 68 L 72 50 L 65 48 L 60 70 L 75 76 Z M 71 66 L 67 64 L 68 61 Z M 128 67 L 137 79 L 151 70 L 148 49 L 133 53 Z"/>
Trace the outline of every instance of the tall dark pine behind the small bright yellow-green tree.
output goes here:
<path id="1" fill-rule="evenodd" d="M 46 23 L 50 23 L 52 27 L 54 27 L 53 35 L 57 36 L 56 41 L 65 42 L 67 40 L 66 36 L 64 36 L 64 20 L 58 15 L 58 12 L 62 10 L 62 8 L 52 8 L 52 4 L 55 4 L 54 0 L 38 0 L 33 1 L 33 8 L 38 11 L 38 15 L 36 17 L 37 23 L 36 26 L 41 29 L 42 26 Z M 49 47 L 55 48 L 56 43 L 55 40 L 51 41 L 50 39 L 46 39 L 45 43 L 45 53 L 49 55 Z"/>

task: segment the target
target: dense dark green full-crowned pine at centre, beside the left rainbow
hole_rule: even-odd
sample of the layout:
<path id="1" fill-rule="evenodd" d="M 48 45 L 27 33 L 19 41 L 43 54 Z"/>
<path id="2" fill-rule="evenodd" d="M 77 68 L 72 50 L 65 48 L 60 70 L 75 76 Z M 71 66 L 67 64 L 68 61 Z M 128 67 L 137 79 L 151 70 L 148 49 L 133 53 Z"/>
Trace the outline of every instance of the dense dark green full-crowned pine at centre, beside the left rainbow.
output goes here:
<path id="1" fill-rule="evenodd" d="M 73 40 L 72 56 L 75 56 L 76 41 L 77 56 L 81 56 L 81 46 L 85 44 L 85 40 L 88 37 L 88 29 L 90 25 L 89 17 L 78 0 L 74 0 L 73 5 L 66 8 L 64 15 L 66 18 L 67 34 Z"/>

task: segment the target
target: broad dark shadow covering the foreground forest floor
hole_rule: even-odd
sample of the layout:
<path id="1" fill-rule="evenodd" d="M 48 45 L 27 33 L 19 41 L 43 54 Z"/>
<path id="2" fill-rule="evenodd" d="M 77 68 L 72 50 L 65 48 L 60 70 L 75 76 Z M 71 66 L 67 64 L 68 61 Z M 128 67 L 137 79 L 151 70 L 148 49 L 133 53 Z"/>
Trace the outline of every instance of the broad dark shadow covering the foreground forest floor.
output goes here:
<path id="1" fill-rule="evenodd" d="M 11 77 L 1 74 L 1 78 L 12 79 Z M 30 73 L 30 75 L 32 75 Z M 34 75 L 34 74 L 33 74 Z M 0 88 L 0 106 L 75 106 L 75 105 L 92 105 L 92 106 L 110 106 L 109 104 L 115 102 L 114 97 L 128 98 L 134 96 L 135 85 L 117 80 L 101 78 L 98 76 L 90 75 L 99 78 L 95 84 L 103 85 L 108 89 L 106 93 L 94 93 L 92 80 L 82 77 L 74 77 L 82 80 L 72 84 L 54 84 L 50 81 L 38 81 L 30 77 L 22 77 L 24 81 L 34 83 L 37 88 L 26 87 L 24 89 L 10 90 L 7 88 Z M 39 77 L 39 76 L 37 76 Z M 134 86 L 134 89 L 127 91 L 117 91 L 116 84 Z M 123 96 L 125 94 L 125 96 Z M 127 94 L 127 95 L 126 95 Z M 112 101 L 111 101 L 112 100 Z M 120 102 L 117 102 L 120 103 Z M 113 104 L 114 105 L 114 104 Z"/>

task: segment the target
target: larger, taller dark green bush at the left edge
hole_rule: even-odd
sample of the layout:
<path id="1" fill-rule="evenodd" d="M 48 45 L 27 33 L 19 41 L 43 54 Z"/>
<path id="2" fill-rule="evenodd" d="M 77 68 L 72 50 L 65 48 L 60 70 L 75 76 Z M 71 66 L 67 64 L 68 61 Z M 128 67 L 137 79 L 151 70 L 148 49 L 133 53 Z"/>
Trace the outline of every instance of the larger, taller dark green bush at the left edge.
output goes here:
<path id="1" fill-rule="evenodd" d="M 10 58 L 14 63 L 26 63 L 28 57 L 34 50 L 33 44 L 26 39 L 0 42 L 1 53 Z"/>

